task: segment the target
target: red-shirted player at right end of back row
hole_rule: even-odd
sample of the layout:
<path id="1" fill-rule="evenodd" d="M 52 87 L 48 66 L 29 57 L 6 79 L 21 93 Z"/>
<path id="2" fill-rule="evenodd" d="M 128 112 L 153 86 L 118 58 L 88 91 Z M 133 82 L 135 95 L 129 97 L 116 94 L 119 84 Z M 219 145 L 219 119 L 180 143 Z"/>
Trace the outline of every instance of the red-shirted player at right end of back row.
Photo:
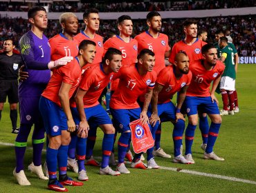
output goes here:
<path id="1" fill-rule="evenodd" d="M 181 50 L 184 50 L 188 54 L 190 63 L 203 59 L 201 48 L 206 43 L 197 38 L 197 21 L 195 19 L 186 19 L 183 22 L 183 32 L 185 33 L 185 39 L 174 44 L 172 54 L 169 58 L 170 63 L 174 62 L 176 53 Z M 199 129 L 201 130 L 203 139 L 201 148 L 205 150 L 208 140 L 209 124 L 206 114 L 202 112 L 199 112 Z"/>

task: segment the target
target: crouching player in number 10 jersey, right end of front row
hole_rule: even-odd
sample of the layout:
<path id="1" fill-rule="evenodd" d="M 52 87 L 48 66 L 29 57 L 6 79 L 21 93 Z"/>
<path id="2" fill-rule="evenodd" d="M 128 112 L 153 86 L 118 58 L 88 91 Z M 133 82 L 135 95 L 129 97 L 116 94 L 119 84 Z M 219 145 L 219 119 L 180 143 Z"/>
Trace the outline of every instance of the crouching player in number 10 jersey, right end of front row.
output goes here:
<path id="1" fill-rule="evenodd" d="M 217 49 L 214 45 L 203 45 L 202 54 L 202 60 L 190 63 L 192 81 L 184 101 L 188 114 L 188 127 L 185 131 L 185 159 L 190 161 L 190 163 L 194 163 L 191 148 L 194 140 L 194 131 L 198 122 L 197 111 L 199 110 L 206 112 L 212 121 L 203 158 L 218 161 L 224 160 L 214 154 L 213 146 L 219 134 L 219 128 L 221 127 L 221 116 L 217 105 L 219 102 L 214 96 L 214 92 L 219 84 L 225 65 L 221 61 L 217 61 Z M 212 90 L 210 90 L 211 83 Z"/>

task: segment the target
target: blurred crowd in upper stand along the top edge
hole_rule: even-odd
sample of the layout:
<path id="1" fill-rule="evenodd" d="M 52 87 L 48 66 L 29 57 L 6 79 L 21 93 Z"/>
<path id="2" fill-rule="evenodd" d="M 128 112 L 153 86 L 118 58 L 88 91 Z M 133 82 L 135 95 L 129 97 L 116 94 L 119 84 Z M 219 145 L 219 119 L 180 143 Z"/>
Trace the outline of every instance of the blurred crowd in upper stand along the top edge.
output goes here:
<path id="1" fill-rule="evenodd" d="M 128 3 L 127 3 L 128 2 Z M 28 3 L 19 2 L 1 2 L 0 11 L 27 11 Z M 129 1 L 120 1 L 120 3 L 111 3 L 111 1 L 98 1 L 91 3 L 77 3 L 75 1 L 53 1 L 48 3 L 49 12 L 84 12 L 86 8 L 94 7 L 100 12 L 148 12 L 172 11 L 172 10 L 210 10 L 223 8 L 246 8 L 256 6 L 255 0 L 204 0 L 204 1 L 140 1 L 129 3 Z"/>

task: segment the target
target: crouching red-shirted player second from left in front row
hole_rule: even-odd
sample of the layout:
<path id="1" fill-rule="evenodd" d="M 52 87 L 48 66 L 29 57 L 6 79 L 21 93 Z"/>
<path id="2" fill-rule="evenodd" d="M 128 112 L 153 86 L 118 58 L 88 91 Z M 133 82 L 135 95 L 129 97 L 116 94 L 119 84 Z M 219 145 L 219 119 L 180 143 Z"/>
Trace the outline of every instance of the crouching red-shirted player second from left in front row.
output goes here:
<path id="1" fill-rule="evenodd" d="M 88 176 L 84 167 L 86 154 L 86 137 L 88 134 L 88 122 L 93 124 L 93 128 L 98 126 L 104 132 L 102 141 L 102 164 L 100 174 L 109 174 L 112 176 L 120 175 L 120 172 L 113 171 L 109 167 L 109 156 L 113 147 L 113 137 L 115 129 L 107 112 L 102 108 L 98 99 L 102 90 L 106 88 L 112 79 L 114 72 L 121 68 L 122 52 L 115 48 L 109 48 L 102 63 L 92 65 L 88 68 L 83 76 L 80 86 L 75 95 L 75 103 L 71 103 L 75 124 L 79 125 L 77 130 L 77 163 L 78 179 L 87 181 Z M 76 107 L 75 108 L 75 104 Z M 88 121 L 88 122 L 87 122 Z M 94 127 L 95 126 L 95 127 Z"/>

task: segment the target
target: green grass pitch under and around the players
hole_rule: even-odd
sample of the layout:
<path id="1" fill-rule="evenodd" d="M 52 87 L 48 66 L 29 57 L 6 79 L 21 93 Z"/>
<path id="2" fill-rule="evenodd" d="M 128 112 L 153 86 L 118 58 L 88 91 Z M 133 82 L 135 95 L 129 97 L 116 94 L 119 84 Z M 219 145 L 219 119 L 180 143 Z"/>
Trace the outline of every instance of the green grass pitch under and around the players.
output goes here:
<path id="1" fill-rule="evenodd" d="M 203 159 L 200 148 L 201 136 L 196 129 L 193 145 L 194 165 L 172 163 L 172 159 L 156 158 L 158 165 L 169 167 L 170 170 L 138 170 L 129 169 L 131 174 L 120 176 L 101 176 L 98 167 L 86 167 L 89 181 L 83 187 L 68 187 L 69 192 L 256 192 L 256 65 L 239 65 L 237 74 L 237 92 L 240 112 L 234 116 L 223 116 L 219 138 L 214 152 L 225 158 L 225 161 L 209 161 Z M 218 95 L 221 103 L 221 96 Z M 221 108 L 221 105 L 220 105 Z M 163 123 L 161 146 L 165 152 L 173 156 L 172 128 L 170 123 Z M 11 133 L 9 108 L 6 103 L 0 122 L 0 142 L 14 143 L 16 134 Z M 28 146 L 31 147 L 31 136 Z M 100 156 L 102 131 L 98 130 L 95 145 L 95 156 Z M 24 165 L 31 162 L 32 150 L 26 151 Z M 45 160 L 45 152 L 43 154 Z M 26 170 L 30 181 L 29 187 L 17 184 L 12 176 L 15 167 L 14 147 L 0 145 L 0 192 L 50 192 L 46 189 L 47 181 L 36 178 Z M 180 167 L 181 172 L 175 168 Z M 184 173 L 186 170 L 217 174 L 237 179 L 253 181 L 255 184 L 239 181 L 217 179 L 211 176 Z M 77 174 L 68 172 L 74 179 Z"/>

